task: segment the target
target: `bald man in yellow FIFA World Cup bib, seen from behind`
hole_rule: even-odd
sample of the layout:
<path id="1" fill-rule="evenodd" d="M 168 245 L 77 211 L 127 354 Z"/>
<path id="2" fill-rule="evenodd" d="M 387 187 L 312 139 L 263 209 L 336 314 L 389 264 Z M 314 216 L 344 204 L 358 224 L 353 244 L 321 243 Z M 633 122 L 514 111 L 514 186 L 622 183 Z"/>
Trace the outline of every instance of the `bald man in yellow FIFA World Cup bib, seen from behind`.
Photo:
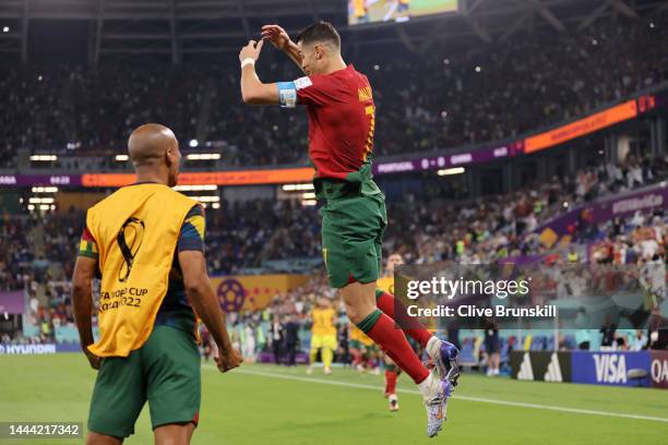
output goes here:
<path id="1" fill-rule="evenodd" d="M 198 317 L 218 347 L 222 372 L 242 359 L 206 272 L 203 209 L 171 189 L 181 159 L 177 139 L 150 123 L 132 132 L 128 148 L 136 181 L 88 209 L 72 277 L 81 345 L 98 370 L 86 443 L 121 444 L 148 401 L 155 443 L 184 445 L 200 411 Z"/>

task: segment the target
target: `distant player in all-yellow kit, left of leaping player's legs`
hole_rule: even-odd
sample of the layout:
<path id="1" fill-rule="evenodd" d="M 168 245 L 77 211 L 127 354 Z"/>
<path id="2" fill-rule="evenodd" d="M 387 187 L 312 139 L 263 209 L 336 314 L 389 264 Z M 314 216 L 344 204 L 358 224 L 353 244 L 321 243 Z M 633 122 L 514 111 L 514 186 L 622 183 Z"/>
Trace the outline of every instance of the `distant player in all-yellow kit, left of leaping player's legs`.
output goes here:
<path id="1" fill-rule="evenodd" d="M 324 373 L 329 375 L 332 373 L 332 361 L 336 350 L 336 311 L 330 304 L 330 300 L 321 297 L 311 316 L 313 318 L 313 326 L 311 327 L 311 360 L 307 374 L 313 372 L 313 364 L 320 349 Z"/>

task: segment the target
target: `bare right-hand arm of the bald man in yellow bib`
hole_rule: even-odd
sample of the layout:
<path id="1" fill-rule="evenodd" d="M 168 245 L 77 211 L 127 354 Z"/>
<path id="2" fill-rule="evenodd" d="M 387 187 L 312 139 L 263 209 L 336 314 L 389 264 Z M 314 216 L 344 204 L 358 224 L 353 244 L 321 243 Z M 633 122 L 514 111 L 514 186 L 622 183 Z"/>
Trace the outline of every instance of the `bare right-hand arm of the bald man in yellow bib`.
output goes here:
<path id="1" fill-rule="evenodd" d="M 186 294 L 218 346 L 218 357 L 215 358 L 218 370 L 227 372 L 239 366 L 243 358 L 239 351 L 232 349 L 225 325 L 225 314 L 206 272 L 204 254 L 200 251 L 179 252 L 179 264 L 183 273 Z"/>

